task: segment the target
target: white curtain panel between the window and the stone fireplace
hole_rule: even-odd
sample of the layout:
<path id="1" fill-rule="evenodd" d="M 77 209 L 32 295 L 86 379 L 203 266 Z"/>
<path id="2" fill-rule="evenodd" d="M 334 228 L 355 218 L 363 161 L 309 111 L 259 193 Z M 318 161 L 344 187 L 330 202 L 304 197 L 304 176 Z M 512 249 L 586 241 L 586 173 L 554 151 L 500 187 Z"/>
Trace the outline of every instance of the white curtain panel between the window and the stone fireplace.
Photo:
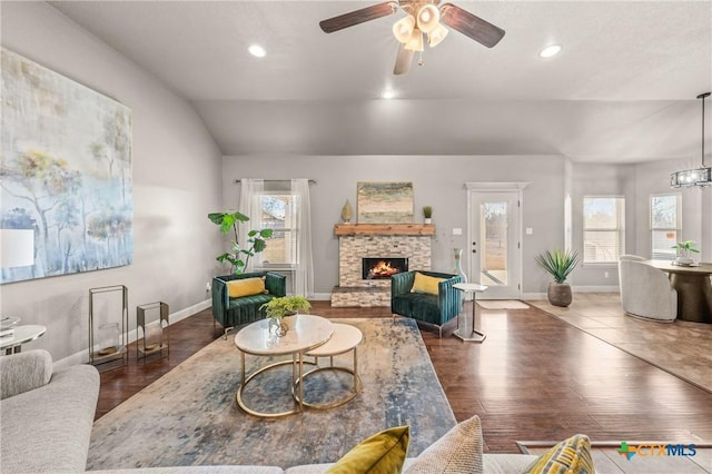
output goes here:
<path id="1" fill-rule="evenodd" d="M 312 259 L 312 206 L 309 201 L 309 180 L 293 179 L 291 194 L 298 200 L 297 217 L 297 267 L 294 275 L 295 295 L 314 295 L 314 261 Z"/>

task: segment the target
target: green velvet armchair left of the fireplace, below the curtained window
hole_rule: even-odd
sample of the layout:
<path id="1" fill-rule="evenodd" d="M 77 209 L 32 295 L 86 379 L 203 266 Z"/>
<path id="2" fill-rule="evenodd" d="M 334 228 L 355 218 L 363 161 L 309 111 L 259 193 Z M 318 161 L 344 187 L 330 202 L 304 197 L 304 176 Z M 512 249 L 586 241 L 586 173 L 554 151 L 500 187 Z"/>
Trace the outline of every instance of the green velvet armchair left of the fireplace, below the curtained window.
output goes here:
<path id="1" fill-rule="evenodd" d="M 230 298 L 227 282 L 243 278 L 265 277 L 263 295 Z M 248 274 L 225 275 L 212 278 L 212 324 L 217 320 L 225 328 L 225 335 L 234 327 L 253 323 L 265 317 L 261 305 L 278 296 L 287 296 L 287 278 L 271 271 L 253 271 Z"/>

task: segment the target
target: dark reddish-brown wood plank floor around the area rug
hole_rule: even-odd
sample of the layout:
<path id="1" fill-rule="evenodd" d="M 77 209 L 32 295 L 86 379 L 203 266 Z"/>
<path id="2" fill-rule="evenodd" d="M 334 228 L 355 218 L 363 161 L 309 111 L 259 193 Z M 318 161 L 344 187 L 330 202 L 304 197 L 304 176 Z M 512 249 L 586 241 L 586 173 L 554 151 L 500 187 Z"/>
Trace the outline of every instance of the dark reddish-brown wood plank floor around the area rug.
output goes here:
<path id="1" fill-rule="evenodd" d="M 469 309 L 467 303 L 466 310 Z M 390 317 L 388 308 L 332 308 L 326 317 Z M 479 310 L 484 344 L 423 328 L 437 376 L 458 421 L 479 415 L 486 450 L 515 441 L 712 442 L 712 394 L 536 309 Z M 101 374 L 97 418 L 220 337 L 210 309 L 170 327 L 170 355 L 135 359 Z M 706 348 L 709 350 L 709 348 Z M 427 403 L 427 401 L 423 401 Z"/>

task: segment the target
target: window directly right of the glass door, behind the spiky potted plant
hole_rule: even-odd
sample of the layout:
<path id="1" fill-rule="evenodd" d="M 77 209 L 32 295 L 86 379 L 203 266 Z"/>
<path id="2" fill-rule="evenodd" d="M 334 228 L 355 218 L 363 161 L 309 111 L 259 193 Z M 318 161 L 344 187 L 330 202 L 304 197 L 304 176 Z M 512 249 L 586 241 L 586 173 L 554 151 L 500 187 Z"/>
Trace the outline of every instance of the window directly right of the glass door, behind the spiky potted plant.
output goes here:
<path id="1" fill-rule="evenodd" d="M 583 261 L 609 264 L 625 253 L 625 198 L 583 198 Z"/>

